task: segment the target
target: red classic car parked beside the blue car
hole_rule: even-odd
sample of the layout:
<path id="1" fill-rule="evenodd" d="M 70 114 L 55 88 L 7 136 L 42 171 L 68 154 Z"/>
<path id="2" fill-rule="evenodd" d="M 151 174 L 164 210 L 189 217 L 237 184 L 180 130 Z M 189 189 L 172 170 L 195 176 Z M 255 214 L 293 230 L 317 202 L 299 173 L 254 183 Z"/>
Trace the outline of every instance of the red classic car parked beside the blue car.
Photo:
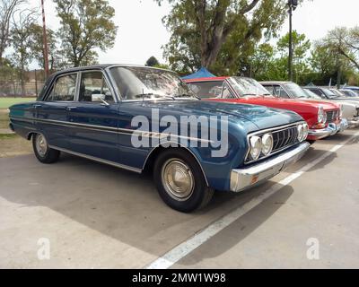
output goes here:
<path id="1" fill-rule="evenodd" d="M 322 101 L 284 100 L 272 96 L 256 80 L 245 77 L 213 77 L 186 80 L 198 97 L 245 103 L 276 109 L 288 109 L 301 115 L 310 128 L 308 140 L 316 141 L 342 132 L 340 105 Z"/>

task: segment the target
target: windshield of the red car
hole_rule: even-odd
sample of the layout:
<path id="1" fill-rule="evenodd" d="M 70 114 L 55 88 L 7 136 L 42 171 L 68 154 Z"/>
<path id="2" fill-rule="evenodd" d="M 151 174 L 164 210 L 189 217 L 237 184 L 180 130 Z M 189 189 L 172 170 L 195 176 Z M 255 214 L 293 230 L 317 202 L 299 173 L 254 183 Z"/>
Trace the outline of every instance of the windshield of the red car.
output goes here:
<path id="1" fill-rule="evenodd" d="M 263 87 L 256 80 L 251 78 L 243 78 L 243 77 L 231 77 L 228 79 L 229 83 L 231 83 L 232 88 L 241 96 L 271 96 L 270 92 L 267 91 L 265 87 Z"/>

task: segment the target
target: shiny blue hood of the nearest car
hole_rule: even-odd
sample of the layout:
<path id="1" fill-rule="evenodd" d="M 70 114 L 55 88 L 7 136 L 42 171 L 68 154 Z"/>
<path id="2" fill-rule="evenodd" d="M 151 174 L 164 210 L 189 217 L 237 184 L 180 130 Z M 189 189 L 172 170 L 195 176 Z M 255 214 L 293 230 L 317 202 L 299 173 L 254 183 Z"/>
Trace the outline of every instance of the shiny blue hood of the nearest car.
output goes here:
<path id="1" fill-rule="evenodd" d="M 247 132 L 284 126 L 303 120 L 301 116 L 291 111 L 210 100 L 158 100 L 137 102 L 135 105 L 149 110 L 159 109 L 160 116 L 228 116 L 246 126 Z"/>

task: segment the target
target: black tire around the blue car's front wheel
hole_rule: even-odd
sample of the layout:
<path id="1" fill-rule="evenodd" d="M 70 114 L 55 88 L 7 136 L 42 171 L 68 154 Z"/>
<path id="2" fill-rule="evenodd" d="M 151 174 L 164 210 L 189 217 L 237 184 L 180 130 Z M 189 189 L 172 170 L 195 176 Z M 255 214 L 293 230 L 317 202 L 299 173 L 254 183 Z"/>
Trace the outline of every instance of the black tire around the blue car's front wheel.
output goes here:
<path id="1" fill-rule="evenodd" d="M 169 191 L 171 187 L 164 183 L 165 179 L 162 179 L 162 173 L 163 175 L 167 174 L 166 168 L 175 162 L 185 164 L 191 175 L 188 178 L 191 178 L 189 181 L 192 184 L 189 186 L 192 188 L 188 188 L 188 190 L 192 191 L 190 195 L 184 198 L 174 196 Z M 154 163 L 153 179 L 162 200 L 181 213 L 191 213 L 205 207 L 214 195 L 214 189 L 207 187 L 206 178 L 196 159 L 182 149 L 168 149 L 160 153 Z"/>

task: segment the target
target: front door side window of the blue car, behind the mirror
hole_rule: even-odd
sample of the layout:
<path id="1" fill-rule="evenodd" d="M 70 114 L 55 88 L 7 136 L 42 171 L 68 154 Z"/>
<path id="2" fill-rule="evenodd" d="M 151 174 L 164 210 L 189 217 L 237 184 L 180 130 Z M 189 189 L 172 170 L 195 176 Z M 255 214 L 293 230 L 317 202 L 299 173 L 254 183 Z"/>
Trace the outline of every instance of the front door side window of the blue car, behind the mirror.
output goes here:
<path id="1" fill-rule="evenodd" d="M 114 102 L 102 72 L 88 72 L 81 76 L 79 101 L 96 101 L 92 99 L 93 95 L 102 96 L 107 102 Z"/>

